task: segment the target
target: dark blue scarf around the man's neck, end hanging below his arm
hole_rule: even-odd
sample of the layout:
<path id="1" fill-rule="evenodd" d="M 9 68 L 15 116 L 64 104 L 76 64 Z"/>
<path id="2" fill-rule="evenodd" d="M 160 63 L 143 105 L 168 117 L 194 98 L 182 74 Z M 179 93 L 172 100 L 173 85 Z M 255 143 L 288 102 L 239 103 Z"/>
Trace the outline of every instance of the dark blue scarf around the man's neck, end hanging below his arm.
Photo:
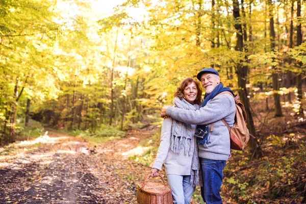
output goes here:
<path id="1" fill-rule="evenodd" d="M 230 91 L 234 96 L 234 92 L 228 87 L 223 87 L 222 82 L 220 82 L 220 84 L 218 84 L 211 93 L 205 93 L 204 101 L 201 107 L 205 107 L 210 99 L 213 99 L 216 95 L 224 91 Z M 206 144 L 208 141 L 208 135 L 209 135 L 208 124 L 196 125 L 196 129 L 202 129 L 207 132 L 206 136 L 203 139 L 197 138 L 198 144 L 200 145 Z"/>

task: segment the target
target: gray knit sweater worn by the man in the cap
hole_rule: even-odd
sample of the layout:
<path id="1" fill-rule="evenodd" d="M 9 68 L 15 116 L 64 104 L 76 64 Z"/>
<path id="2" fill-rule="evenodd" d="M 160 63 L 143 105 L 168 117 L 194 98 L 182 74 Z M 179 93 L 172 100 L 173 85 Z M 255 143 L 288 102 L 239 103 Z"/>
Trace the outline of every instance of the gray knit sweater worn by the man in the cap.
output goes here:
<path id="1" fill-rule="evenodd" d="M 221 94 L 209 100 L 205 107 L 199 110 L 184 110 L 174 107 L 167 108 L 167 115 L 173 119 L 189 124 L 211 124 L 214 130 L 208 136 L 208 143 L 198 145 L 199 157 L 211 160 L 226 161 L 231 154 L 230 134 L 221 121 L 222 118 L 228 125 L 233 126 L 235 120 L 235 99 L 230 94 Z M 209 125 L 209 130 L 210 130 Z"/>

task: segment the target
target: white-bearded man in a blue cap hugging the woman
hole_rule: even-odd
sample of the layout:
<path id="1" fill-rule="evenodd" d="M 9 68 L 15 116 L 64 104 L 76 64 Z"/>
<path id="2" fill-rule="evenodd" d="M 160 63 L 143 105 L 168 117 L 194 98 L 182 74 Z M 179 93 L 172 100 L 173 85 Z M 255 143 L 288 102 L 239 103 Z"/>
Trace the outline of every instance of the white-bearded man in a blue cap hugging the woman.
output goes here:
<path id="1" fill-rule="evenodd" d="M 161 116 L 197 124 L 195 136 L 203 180 L 201 195 L 207 204 L 222 203 L 220 187 L 231 148 L 230 134 L 221 119 L 233 126 L 236 113 L 234 93 L 230 88 L 223 87 L 218 71 L 213 68 L 202 69 L 197 74 L 197 79 L 206 92 L 201 108 L 192 111 L 165 106 Z"/>

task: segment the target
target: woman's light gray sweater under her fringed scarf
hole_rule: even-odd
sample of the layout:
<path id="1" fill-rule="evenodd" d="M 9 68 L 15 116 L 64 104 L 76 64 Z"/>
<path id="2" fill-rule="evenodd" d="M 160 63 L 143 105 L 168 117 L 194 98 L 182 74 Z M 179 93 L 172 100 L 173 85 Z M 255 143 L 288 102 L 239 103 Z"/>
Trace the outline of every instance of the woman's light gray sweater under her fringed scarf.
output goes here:
<path id="1" fill-rule="evenodd" d="M 172 120 L 172 118 L 165 118 L 163 121 L 160 146 L 152 168 L 161 170 L 164 163 L 167 174 L 191 175 L 191 162 L 195 138 L 192 137 L 192 154 L 190 156 L 185 155 L 184 151 L 174 153 L 170 148 Z M 191 128 L 192 131 L 195 132 L 196 125 L 191 125 Z"/>

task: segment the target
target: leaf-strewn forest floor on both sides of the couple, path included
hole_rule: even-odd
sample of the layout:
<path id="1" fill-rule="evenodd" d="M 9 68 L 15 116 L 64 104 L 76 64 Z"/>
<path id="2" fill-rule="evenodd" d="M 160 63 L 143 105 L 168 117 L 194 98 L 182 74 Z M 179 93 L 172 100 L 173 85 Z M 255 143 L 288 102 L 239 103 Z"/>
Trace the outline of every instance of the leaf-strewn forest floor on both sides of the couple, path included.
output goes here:
<path id="1" fill-rule="evenodd" d="M 248 150 L 233 152 L 224 169 L 224 203 L 306 202 L 306 122 L 287 119 L 274 119 L 261 131 L 280 135 L 264 139 L 262 159 L 246 162 Z M 94 145 L 48 130 L 35 140 L 0 147 L 0 203 L 137 203 L 137 184 L 152 158 L 138 159 L 155 157 L 147 146 L 158 147 L 159 133 L 150 125 Z M 199 188 L 191 203 L 203 203 Z"/>

